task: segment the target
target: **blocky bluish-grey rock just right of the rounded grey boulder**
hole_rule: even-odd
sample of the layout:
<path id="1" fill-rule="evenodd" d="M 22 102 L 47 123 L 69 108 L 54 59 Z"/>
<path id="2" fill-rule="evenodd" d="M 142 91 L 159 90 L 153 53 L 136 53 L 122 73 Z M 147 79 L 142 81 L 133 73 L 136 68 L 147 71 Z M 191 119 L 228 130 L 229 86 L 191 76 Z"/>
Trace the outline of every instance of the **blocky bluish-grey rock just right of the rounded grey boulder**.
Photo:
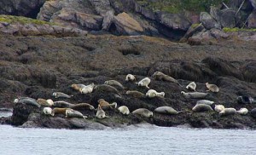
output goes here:
<path id="1" fill-rule="evenodd" d="M 236 26 L 236 10 L 234 9 L 222 9 L 220 11 L 219 21 L 222 27 L 233 28 Z"/>

